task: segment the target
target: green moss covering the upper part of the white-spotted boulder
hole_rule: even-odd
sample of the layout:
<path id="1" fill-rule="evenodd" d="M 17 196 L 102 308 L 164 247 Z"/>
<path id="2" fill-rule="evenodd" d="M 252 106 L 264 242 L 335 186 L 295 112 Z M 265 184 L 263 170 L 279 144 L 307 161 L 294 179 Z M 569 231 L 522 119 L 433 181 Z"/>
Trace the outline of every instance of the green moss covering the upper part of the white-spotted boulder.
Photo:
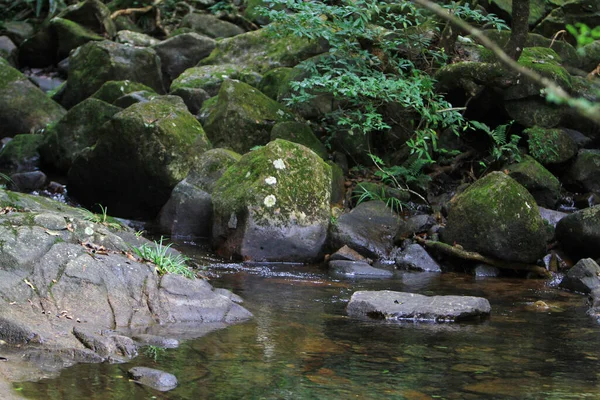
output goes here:
<path id="1" fill-rule="evenodd" d="M 217 181 L 213 204 L 224 216 L 251 213 L 259 225 L 304 225 L 328 218 L 330 196 L 331 168 L 308 148 L 278 139 L 229 167 Z"/>

